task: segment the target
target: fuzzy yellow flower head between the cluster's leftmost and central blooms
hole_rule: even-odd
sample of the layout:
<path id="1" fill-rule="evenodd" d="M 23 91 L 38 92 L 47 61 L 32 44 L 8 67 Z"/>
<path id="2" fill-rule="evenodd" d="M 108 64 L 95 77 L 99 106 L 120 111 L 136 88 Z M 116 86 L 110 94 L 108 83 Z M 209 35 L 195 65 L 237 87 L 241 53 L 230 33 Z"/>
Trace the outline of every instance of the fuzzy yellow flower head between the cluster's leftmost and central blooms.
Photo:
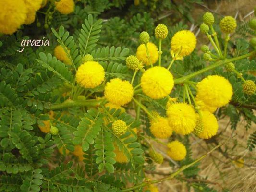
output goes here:
<path id="1" fill-rule="evenodd" d="M 116 105 L 129 103 L 134 96 L 133 85 L 120 78 L 111 79 L 105 86 L 104 95 L 106 99 Z"/>

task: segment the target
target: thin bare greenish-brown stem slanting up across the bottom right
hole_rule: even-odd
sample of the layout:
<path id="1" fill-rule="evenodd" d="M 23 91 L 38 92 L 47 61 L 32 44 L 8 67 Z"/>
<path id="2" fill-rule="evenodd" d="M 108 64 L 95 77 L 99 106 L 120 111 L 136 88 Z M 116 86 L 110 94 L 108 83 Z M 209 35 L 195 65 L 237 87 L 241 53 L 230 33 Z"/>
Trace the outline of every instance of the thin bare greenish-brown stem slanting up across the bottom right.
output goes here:
<path id="1" fill-rule="evenodd" d="M 133 187 L 130 187 L 130 188 L 127 188 L 127 189 L 124 189 L 122 190 L 123 192 L 129 192 L 129 191 L 132 191 L 132 190 L 135 190 L 135 189 L 138 189 L 138 188 L 141 188 L 141 187 L 144 187 L 146 185 L 149 185 L 149 184 L 154 184 L 154 183 L 159 183 L 159 182 L 163 182 L 165 180 L 171 180 L 173 179 L 175 176 L 179 175 L 181 172 L 183 172 L 183 170 L 187 169 L 187 168 L 190 168 L 191 166 L 195 165 L 197 162 L 201 161 L 202 159 L 204 159 L 207 155 L 209 155 L 210 153 L 212 153 L 214 150 L 218 149 L 220 146 L 222 146 L 223 144 L 225 144 L 225 142 L 221 143 L 221 144 L 218 144 L 216 147 L 214 147 L 212 150 L 210 150 L 209 152 L 207 152 L 205 155 L 199 157 L 198 159 L 196 159 L 195 161 L 193 161 L 192 163 L 188 164 L 188 165 L 185 165 L 181 168 L 179 168 L 177 171 L 175 171 L 174 173 L 172 173 L 170 176 L 168 177 L 165 177 L 165 178 L 162 178 L 162 179 L 159 179 L 159 180 L 151 180 L 151 181 L 146 181 L 146 182 L 143 182 L 141 184 L 138 184 L 138 185 L 135 185 Z"/>

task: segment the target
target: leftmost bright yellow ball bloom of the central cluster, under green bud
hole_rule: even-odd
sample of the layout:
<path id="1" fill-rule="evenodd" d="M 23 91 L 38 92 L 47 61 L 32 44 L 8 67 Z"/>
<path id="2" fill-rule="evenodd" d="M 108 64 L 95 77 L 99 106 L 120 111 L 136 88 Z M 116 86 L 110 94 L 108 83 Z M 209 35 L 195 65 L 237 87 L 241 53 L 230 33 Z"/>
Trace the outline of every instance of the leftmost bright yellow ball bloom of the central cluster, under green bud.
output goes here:
<path id="1" fill-rule="evenodd" d="M 95 88 L 103 82 L 105 71 L 98 62 L 88 61 L 78 67 L 75 77 L 81 86 Z"/>

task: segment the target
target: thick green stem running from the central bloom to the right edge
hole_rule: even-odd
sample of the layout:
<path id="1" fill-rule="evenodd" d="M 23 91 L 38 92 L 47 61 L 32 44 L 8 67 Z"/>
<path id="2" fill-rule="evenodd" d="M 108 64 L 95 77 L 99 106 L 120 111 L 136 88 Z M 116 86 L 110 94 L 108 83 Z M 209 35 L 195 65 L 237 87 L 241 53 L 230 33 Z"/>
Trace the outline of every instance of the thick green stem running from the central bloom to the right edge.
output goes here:
<path id="1" fill-rule="evenodd" d="M 197 75 L 200 75 L 200 74 L 202 74 L 202 73 L 204 73 L 204 72 L 207 72 L 207 71 L 209 71 L 209 70 L 212 70 L 212 69 L 214 69 L 214 68 L 216 68 L 216 67 L 219 67 L 219 66 L 221 66 L 221 65 L 224 65 L 224 64 L 226 64 L 226 63 L 233 62 L 233 61 L 236 61 L 236 60 L 242 60 L 242 59 L 245 59 L 245 58 L 250 57 L 250 56 L 253 56 L 253 55 L 256 55 L 256 51 L 252 51 L 252 52 L 247 53 L 247 54 L 245 54 L 245 55 L 241 55 L 241 56 L 239 56 L 239 57 L 235 57 L 235 58 L 231 58 L 231 59 L 219 60 L 219 61 L 215 62 L 214 64 L 207 66 L 207 67 L 204 68 L 204 69 L 201 69 L 201 70 L 199 70 L 199 71 L 197 71 L 197 72 L 193 72 L 193 73 L 191 73 L 191 74 L 189 74 L 189 75 L 187 75 L 187 76 L 184 76 L 184 77 L 175 79 L 175 80 L 174 80 L 174 83 L 175 83 L 175 84 L 183 84 L 185 81 L 187 81 L 187 80 L 189 80 L 189 79 L 191 79 L 191 78 L 193 78 L 193 77 L 195 77 L 195 76 L 197 76 Z"/>

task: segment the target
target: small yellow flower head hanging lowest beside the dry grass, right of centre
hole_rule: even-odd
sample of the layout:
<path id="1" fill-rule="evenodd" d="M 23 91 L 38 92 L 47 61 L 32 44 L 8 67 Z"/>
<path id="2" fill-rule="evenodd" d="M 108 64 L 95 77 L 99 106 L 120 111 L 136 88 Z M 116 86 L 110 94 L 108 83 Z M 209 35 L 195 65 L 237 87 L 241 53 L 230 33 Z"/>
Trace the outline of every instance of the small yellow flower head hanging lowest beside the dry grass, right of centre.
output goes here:
<path id="1" fill-rule="evenodd" d="M 187 155 L 186 147 L 179 141 L 172 141 L 167 144 L 168 150 L 167 155 L 170 156 L 174 161 L 181 161 Z"/>

